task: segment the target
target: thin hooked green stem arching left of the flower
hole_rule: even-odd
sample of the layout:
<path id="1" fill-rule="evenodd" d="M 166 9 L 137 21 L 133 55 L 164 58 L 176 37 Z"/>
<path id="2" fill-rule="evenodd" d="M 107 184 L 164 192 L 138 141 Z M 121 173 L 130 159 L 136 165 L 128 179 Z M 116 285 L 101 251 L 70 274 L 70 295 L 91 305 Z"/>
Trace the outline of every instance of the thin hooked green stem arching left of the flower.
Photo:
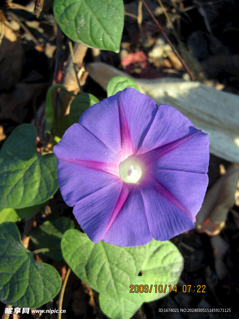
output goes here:
<path id="1" fill-rule="evenodd" d="M 53 123 L 54 123 L 54 111 L 53 111 L 53 106 L 52 106 L 52 93 L 54 92 L 54 90 L 56 89 L 62 89 L 65 90 L 66 92 L 68 92 L 70 95 L 74 95 L 73 93 L 67 91 L 67 89 L 65 88 L 64 85 L 62 84 L 54 84 L 52 85 L 48 91 L 47 91 L 47 98 L 46 98 L 46 109 L 45 109 L 45 117 L 46 117 L 46 129 L 45 131 L 50 134 L 51 133 L 51 129 L 53 127 Z"/>

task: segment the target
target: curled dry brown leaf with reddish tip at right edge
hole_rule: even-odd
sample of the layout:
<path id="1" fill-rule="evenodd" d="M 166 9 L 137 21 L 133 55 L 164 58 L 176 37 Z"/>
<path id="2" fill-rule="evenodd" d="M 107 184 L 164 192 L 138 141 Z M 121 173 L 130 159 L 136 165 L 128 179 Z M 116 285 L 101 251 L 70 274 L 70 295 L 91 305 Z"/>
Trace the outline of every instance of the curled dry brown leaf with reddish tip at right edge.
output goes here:
<path id="1" fill-rule="evenodd" d="M 208 190 L 197 214 L 195 226 L 200 232 L 217 235 L 225 225 L 228 210 L 235 203 L 235 190 L 239 179 L 239 165 L 231 164 Z"/>

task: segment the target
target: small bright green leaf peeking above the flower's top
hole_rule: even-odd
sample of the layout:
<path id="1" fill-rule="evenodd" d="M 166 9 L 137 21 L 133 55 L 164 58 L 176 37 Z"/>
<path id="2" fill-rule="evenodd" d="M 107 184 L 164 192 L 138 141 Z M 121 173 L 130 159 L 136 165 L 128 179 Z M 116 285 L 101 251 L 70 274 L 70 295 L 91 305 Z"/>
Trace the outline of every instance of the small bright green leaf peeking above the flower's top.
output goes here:
<path id="1" fill-rule="evenodd" d="M 140 91 L 138 85 L 134 80 L 127 77 L 114 77 L 107 85 L 107 96 L 112 96 L 119 91 L 123 91 L 126 87 L 133 87 L 134 89 Z"/>

